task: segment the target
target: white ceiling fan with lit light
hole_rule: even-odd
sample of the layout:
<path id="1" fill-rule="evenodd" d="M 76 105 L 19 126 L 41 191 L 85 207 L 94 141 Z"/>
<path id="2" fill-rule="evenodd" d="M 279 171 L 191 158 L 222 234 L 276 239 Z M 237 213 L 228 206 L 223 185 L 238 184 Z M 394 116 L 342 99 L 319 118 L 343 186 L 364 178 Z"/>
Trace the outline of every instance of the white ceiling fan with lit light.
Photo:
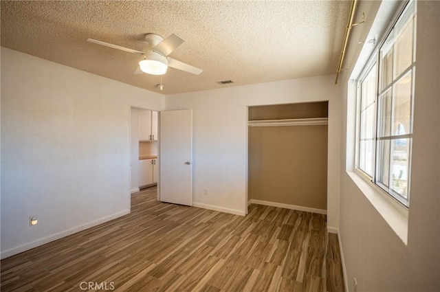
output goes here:
<path id="1" fill-rule="evenodd" d="M 175 34 L 171 34 L 165 39 L 157 34 L 146 34 L 145 41 L 147 45 L 145 52 L 129 49 L 127 47 L 121 47 L 119 45 L 113 45 L 111 43 L 105 43 L 103 41 L 97 41 L 93 38 L 87 38 L 87 41 L 90 43 L 96 43 L 98 45 L 104 45 L 106 47 L 112 47 L 113 49 L 120 49 L 132 54 L 143 55 L 144 59 L 140 60 L 139 67 L 135 71 L 135 74 L 144 72 L 152 75 L 164 75 L 168 67 L 196 75 L 201 74 L 203 71 L 202 69 L 168 57 L 168 55 L 173 52 L 176 47 L 179 47 L 179 45 L 184 43 L 184 40 Z"/>

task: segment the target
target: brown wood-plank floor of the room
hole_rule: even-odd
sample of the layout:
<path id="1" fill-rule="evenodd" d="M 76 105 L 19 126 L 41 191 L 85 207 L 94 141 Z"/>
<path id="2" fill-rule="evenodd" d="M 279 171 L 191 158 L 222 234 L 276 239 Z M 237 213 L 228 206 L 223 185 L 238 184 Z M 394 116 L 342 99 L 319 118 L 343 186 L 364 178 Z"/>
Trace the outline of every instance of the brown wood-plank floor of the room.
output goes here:
<path id="1" fill-rule="evenodd" d="M 236 216 L 157 202 L 156 188 L 131 205 L 1 260 L 1 291 L 344 291 L 325 215 L 250 205 Z"/>

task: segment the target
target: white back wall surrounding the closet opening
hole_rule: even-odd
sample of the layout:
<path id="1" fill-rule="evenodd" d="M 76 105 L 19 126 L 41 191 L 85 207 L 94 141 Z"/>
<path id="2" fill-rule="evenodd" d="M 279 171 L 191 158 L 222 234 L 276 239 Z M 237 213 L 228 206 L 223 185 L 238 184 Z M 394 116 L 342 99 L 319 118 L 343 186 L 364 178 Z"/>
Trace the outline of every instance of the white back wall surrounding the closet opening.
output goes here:
<path id="1" fill-rule="evenodd" d="M 328 225 L 338 228 L 340 97 L 335 76 L 318 76 L 166 96 L 166 109 L 192 109 L 195 205 L 244 214 L 248 108 L 329 100 Z M 203 195 L 208 188 L 208 196 Z"/>

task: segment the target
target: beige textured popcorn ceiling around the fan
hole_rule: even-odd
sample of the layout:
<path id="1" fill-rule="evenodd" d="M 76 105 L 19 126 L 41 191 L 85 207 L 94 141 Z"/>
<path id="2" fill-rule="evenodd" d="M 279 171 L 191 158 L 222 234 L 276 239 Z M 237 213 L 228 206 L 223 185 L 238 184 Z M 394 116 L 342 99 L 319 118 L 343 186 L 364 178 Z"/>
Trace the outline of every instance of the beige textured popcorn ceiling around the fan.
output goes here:
<path id="1" fill-rule="evenodd" d="M 144 34 L 181 36 L 164 94 L 335 74 L 350 1 L 1 1 L 1 46 L 160 92 L 135 75 Z M 232 85 L 216 81 L 233 80 Z"/>

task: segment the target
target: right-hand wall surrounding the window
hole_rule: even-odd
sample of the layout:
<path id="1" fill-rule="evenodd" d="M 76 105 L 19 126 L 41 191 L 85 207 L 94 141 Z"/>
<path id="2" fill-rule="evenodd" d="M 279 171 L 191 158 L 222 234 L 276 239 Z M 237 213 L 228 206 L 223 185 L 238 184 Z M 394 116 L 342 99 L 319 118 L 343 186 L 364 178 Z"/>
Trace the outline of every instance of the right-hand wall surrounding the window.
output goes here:
<path id="1" fill-rule="evenodd" d="M 365 3 L 377 5 L 374 1 Z M 408 244 L 402 242 L 342 168 L 340 238 L 349 291 L 354 291 L 354 277 L 358 291 L 439 291 L 440 287 L 440 2 L 418 1 L 417 6 Z M 368 7 L 361 11 L 368 11 Z M 365 27 L 359 25 L 354 30 L 368 32 L 373 16 L 366 15 Z M 364 39 L 353 38 L 349 50 L 353 52 L 353 47 Z M 348 74 L 340 82 L 344 91 L 342 166 L 351 160 L 346 154 L 353 153 L 346 147 L 347 131 L 352 131 L 350 126 L 347 130 L 345 118 L 347 82 Z M 353 116 L 351 112 L 349 116 Z"/>

